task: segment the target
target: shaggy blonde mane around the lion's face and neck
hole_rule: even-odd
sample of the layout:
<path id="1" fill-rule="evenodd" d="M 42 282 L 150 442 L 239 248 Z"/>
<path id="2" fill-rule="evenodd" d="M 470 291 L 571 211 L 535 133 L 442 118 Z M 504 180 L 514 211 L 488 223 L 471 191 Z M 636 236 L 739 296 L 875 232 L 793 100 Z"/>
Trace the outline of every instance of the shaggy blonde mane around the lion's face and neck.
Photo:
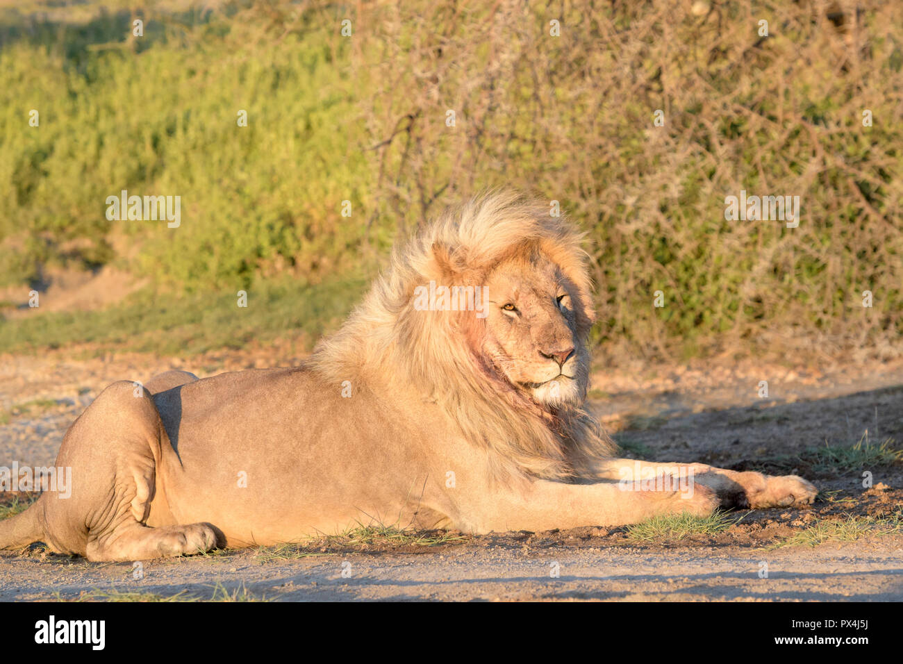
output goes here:
<path id="1" fill-rule="evenodd" d="M 538 250 L 576 290 L 576 335 L 585 347 L 594 314 L 581 242 L 568 221 L 513 192 L 447 210 L 395 248 L 364 301 L 306 366 L 332 384 L 350 380 L 387 398 L 386 385 L 414 388 L 442 407 L 455 433 L 489 452 L 499 478 L 573 477 L 584 463 L 613 452 L 595 420 L 583 407 L 538 406 L 489 366 L 478 352 L 482 322 L 474 312 L 426 313 L 413 300 L 417 286 L 478 286 L 507 257 Z"/>

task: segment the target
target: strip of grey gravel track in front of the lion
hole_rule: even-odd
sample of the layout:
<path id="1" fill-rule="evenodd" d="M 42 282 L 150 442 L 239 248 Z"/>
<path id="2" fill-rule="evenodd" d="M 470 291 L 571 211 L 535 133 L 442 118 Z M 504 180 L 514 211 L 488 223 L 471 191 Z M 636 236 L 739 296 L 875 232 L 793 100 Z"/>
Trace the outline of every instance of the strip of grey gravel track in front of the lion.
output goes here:
<path id="1" fill-rule="evenodd" d="M 506 538 L 424 553 L 352 553 L 271 562 L 254 552 L 131 564 L 0 560 L 0 599 L 85 591 L 210 598 L 217 585 L 276 601 L 898 601 L 903 538 L 815 548 L 512 547 Z M 759 575 L 768 563 L 768 577 Z M 553 577 L 553 563 L 558 576 Z M 343 572 L 348 575 L 343 577 Z"/>

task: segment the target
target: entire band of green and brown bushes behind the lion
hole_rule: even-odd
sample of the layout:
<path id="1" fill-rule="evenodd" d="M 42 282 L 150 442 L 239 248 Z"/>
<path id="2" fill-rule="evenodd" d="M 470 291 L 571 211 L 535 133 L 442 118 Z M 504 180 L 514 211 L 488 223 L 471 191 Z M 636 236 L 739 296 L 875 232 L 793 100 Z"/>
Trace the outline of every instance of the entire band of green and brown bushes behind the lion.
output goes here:
<path id="1" fill-rule="evenodd" d="M 115 263 L 177 294 L 316 284 L 511 185 L 589 231 L 610 347 L 898 351 L 898 4 L 842 25 L 781 2 L 97 5 L 0 14 L 5 283 Z M 182 226 L 107 221 L 121 189 L 181 195 Z M 741 189 L 799 196 L 799 227 L 725 220 Z"/>

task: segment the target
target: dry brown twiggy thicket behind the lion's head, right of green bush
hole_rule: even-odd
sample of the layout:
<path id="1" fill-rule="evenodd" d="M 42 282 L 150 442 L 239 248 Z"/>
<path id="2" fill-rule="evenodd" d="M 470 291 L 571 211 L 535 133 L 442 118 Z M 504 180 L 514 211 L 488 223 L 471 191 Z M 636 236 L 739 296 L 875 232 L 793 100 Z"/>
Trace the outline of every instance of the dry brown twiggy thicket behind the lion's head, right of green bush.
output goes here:
<path id="1" fill-rule="evenodd" d="M 362 114 L 381 152 L 373 214 L 406 229 L 511 183 L 589 230 L 605 341 L 895 352 L 903 7 L 693 7 L 396 3 L 361 16 L 377 51 L 359 56 L 377 62 Z M 800 196 L 799 227 L 726 221 L 724 197 L 741 189 Z"/>

